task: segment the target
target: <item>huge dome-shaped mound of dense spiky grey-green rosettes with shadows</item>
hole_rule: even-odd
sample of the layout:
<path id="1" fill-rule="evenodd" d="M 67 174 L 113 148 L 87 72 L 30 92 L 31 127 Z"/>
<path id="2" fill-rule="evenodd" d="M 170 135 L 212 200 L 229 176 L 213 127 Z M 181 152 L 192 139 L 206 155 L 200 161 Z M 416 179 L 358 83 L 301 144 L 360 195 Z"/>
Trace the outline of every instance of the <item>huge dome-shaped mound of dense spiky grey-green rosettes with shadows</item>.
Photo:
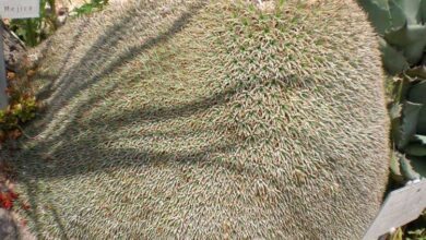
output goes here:
<path id="1" fill-rule="evenodd" d="M 360 238 L 389 146 L 352 1 L 138 1 L 60 28 L 11 160 L 39 238 Z M 344 31 L 343 31 L 344 29 Z"/>

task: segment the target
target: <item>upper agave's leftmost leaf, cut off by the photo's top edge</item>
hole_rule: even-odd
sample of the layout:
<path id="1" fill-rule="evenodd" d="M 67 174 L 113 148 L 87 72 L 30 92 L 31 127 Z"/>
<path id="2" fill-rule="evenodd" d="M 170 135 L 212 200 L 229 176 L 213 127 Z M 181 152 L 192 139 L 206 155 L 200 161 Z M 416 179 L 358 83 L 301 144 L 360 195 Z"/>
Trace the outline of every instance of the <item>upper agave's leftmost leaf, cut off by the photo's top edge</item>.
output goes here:
<path id="1" fill-rule="evenodd" d="M 372 26 L 381 36 L 383 36 L 384 32 L 391 27 L 391 16 L 389 13 L 388 2 L 386 0 L 358 0 L 358 2 L 367 12 Z"/>

